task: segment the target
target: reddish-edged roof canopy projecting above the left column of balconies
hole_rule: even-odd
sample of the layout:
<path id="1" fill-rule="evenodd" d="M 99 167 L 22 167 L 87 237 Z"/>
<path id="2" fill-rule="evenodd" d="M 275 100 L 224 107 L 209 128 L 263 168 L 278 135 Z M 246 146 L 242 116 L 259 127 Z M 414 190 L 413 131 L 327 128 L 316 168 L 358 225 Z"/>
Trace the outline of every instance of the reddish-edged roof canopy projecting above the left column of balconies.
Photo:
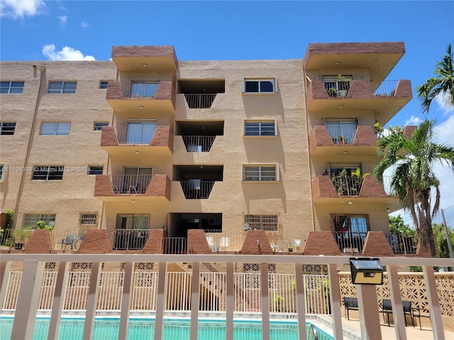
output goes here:
<path id="1" fill-rule="evenodd" d="M 120 72 L 175 72 L 173 46 L 114 46 L 112 60 Z"/>

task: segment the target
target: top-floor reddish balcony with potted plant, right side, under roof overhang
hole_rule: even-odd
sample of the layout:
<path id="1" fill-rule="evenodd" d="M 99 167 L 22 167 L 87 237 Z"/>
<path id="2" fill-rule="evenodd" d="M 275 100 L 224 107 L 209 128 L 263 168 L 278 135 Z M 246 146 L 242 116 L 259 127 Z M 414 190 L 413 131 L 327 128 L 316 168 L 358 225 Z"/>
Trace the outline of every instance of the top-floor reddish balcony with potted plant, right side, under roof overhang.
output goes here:
<path id="1" fill-rule="evenodd" d="M 340 96 L 340 91 L 328 93 L 326 86 L 333 84 L 339 89 L 348 89 L 346 96 Z M 380 83 L 353 80 L 350 86 L 338 84 L 336 81 L 333 84 L 316 79 L 306 83 L 306 107 L 309 111 L 336 111 L 339 108 L 349 111 L 375 111 L 378 121 L 387 122 L 413 98 L 409 80 Z"/>

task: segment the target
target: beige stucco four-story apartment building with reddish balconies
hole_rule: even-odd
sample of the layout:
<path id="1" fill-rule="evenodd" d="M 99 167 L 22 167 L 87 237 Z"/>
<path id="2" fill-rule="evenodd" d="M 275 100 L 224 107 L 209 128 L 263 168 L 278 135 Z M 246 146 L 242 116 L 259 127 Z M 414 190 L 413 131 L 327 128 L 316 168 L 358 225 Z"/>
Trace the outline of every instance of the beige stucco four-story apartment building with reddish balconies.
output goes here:
<path id="1" fill-rule="evenodd" d="M 1 62 L 1 212 L 16 228 L 106 229 L 114 249 L 204 229 L 224 236 L 207 237 L 212 250 L 239 251 L 233 235 L 263 229 L 273 251 L 331 231 L 361 252 L 399 209 L 371 173 L 373 126 L 411 99 L 410 81 L 386 79 L 404 52 L 182 61 L 170 46 L 114 46 L 109 62 Z"/>

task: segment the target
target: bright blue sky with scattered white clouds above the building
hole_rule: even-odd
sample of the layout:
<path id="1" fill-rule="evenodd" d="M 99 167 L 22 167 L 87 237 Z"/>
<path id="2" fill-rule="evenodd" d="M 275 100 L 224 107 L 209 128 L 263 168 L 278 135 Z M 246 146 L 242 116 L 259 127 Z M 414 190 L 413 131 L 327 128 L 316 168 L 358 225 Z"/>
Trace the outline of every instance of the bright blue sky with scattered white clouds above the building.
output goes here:
<path id="1" fill-rule="evenodd" d="M 311 42 L 405 43 L 387 79 L 412 87 L 433 77 L 454 42 L 454 1 L 48 1 L 0 0 L 0 59 L 109 60 L 114 45 L 173 45 L 179 60 L 303 58 Z M 454 145 L 454 110 L 414 98 L 389 125 L 438 122 Z M 441 208 L 454 205 L 454 174 L 437 166 Z M 454 226 L 454 207 L 445 211 Z M 406 218 L 407 220 L 407 218 Z M 441 222 L 438 214 L 436 222 Z"/>

